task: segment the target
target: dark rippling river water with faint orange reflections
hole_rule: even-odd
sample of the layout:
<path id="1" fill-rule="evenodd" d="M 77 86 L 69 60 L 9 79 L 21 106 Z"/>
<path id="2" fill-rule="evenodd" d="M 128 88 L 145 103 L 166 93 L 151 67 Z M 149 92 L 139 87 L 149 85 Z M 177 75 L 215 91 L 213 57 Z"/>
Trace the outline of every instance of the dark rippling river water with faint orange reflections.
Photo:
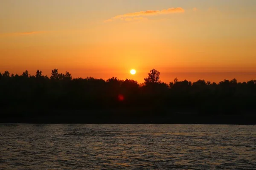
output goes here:
<path id="1" fill-rule="evenodd" d="M 256 126 L 0 124 L 0 169 L 256 169 Z"/>

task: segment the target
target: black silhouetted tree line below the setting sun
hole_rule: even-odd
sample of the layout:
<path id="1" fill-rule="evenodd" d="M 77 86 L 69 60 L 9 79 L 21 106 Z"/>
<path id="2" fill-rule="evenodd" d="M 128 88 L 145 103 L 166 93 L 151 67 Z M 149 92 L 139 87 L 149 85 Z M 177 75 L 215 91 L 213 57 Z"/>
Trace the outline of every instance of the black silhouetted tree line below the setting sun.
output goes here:
<path id="1" fill-rule="evenodd" d="M 226 80 L 218 84 L 199 79 L 166 84 L 152 69 L 143 85 L 136 80 L 73 78 L 69 72 L 52 70 L 51 77 L 37 70 L 35 75 L 0 73 L 0 107 L 10 110 L 86 110 L 146 108 L 154 114 L 196 112 L 243 114 L 255 111 L 256 80 Z"/>

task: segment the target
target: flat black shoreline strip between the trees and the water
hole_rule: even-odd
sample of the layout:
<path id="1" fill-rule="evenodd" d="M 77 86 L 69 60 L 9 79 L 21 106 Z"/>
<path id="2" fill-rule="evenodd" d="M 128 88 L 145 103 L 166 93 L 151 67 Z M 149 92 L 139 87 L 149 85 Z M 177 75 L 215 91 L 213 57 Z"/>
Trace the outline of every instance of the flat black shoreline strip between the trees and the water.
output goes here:
<path id="1" fill-rule="evenodd" d="M 256 125 L 255 113 L 199 114 L 169 111 L 79 110 L 79 111 L 2 111 L 0 123 L 35 124 L 227 124 Z"/>

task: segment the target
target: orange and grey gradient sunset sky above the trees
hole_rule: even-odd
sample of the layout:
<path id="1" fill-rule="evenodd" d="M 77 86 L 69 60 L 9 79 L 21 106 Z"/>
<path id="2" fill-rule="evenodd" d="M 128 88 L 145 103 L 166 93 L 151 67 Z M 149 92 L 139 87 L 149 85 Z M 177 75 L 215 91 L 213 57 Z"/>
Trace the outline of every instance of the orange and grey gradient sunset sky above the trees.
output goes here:
<path id="1" fill-rule="evenodd" d="M 0 72 L 49 76 L 58 68 L 143 82 L 156 68 L 164 82 L 256 79 L 255 7 L 256 0 L 1 0 Z"/>

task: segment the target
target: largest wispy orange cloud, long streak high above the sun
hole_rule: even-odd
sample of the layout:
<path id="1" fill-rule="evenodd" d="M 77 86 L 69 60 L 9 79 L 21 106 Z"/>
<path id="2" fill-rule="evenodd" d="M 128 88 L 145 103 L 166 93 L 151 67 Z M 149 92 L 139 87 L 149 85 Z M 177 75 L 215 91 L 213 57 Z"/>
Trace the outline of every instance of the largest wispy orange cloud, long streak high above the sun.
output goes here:
<path id="1" fill-rule="evenodd" d="M 140 11 L 140 12 L 133 12 L 133 13 L 127 13 L 127 14 L 122 14 L 122 15 L 116 15 L 115 17 L 112 17 L 111 19 L 105 20 L 104 22 L 111 22 L 115 19 L 124 19 L 127 21 L 127 18 L 129 17 L 130 19 L 128 20 L 134 20 L 134 18 L 142 18 L 139 16 L 152 16 L 152 15 L 160 15 L 160 14 L 172 14 L 172 13 L 183 13 L 185 10 L 183 8 L 168 8 L 168 9 L 163 9 L 161 11 L 159 10 L 148 10 L 148 11 Z"/>

